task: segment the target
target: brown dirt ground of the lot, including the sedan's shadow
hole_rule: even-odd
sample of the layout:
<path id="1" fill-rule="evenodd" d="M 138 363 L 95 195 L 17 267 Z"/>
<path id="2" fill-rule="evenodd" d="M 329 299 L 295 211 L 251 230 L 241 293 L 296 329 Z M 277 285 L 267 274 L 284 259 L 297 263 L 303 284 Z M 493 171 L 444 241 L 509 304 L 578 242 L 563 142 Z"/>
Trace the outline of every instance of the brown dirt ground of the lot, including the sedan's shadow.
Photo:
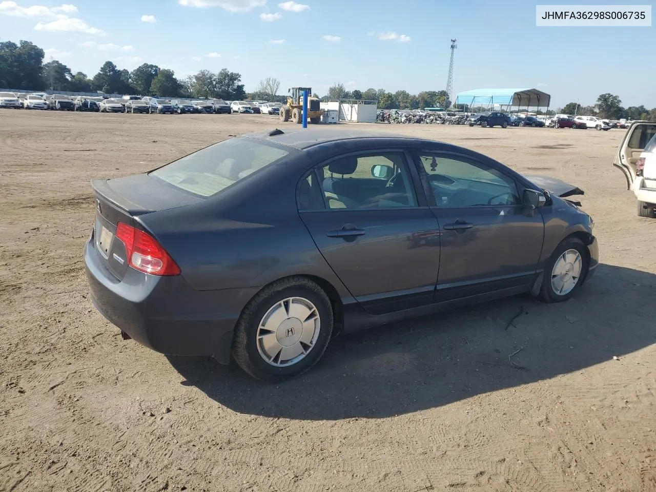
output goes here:
<path id="1" fill-rule="evenodd" d="M 294 126 L 0 111 L 0 490 L 656 490 L 656 220 L 611 166 L 622 130 L 375 126 L 581 186 L 602 264 L 568 302 L 338 337 L 279 385 L 121 340 L 87 295 L 89 180 Z"/>

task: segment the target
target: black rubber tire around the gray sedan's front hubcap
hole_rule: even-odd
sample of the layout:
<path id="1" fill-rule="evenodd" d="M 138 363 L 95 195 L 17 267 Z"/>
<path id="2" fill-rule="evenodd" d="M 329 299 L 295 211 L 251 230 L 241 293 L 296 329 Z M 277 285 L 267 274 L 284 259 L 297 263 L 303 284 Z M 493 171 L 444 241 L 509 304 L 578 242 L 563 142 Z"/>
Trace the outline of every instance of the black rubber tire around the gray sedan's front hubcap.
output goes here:
<path id="1" fill-rule="evenodd" d="M 578 270 L 579 267 L 577 267 L 577 261 L 571 261 L 573 256 L 575 256 L 574 253 L 572 253 L 574 251 L 577 252 L 579 256 L 577 261 L 580 262 L 580 270 Z M 558 293 L 556 290 L 558 281 L 556 281 L 556 286 L 554 286 L 554 281 L 552 281 L 552 279 L 556 278 L 554 276 L 556 276 L 558 272 L 558 270 L 556 270 L 556 265 L 559 263 L 562 264 L 562 262 L 565 261 L 564 255 L 566 255 L 567 260 L 569 260 L 566 265 L 563 265 L 567 267 L 567 272 L 569 272 L 569 276 L 565 277 L 566 280 L 564 285 L 569 284 L 571 279 L 575 279 L 575 283 L 573 287 L 565 293 Z M 554 249 L 554 253 L 552 253 L 544 267 L 544 279 L 538 298 L 543 302 L 563 302 L 572 297 L 579 287 L 581 287 L 581 279 L 584 279 L 588 273 L 588 257 L 586 255 L 586 247 L 581 241 L 579 241 L 579 239 L 576 239 L 575 237 L 564 239 L 564 241 Z M 573 275 L 576 272 L 578 272 L 577 277 Z"/>

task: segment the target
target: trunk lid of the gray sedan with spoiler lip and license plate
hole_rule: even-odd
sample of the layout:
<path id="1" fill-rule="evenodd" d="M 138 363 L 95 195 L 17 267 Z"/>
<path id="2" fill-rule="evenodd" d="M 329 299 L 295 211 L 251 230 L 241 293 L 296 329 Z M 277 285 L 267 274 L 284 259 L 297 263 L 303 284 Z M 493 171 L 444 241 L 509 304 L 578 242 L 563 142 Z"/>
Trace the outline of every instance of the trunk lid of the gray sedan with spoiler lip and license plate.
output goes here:
<path id="1" fill-rule="evenodd" d="M 202 201 L 148 174 L 94 179 L 91 187 L 96 205 L 94 247 L 118 280 L 123 279 L 129 268 L 125 245 L 115 237 L 119 222 L 139 228 L 137 222 L 141 215 Z"/>

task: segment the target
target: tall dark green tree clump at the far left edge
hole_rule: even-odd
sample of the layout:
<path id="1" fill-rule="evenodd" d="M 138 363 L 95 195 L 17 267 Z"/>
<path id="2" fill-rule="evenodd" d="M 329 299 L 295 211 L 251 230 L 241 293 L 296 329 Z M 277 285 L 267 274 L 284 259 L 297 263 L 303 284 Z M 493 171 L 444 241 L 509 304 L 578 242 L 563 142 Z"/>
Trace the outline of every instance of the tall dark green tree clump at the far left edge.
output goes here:
<path id="1" fill-rule="evenodd" d="M 0 86 L 7 89 L 43 89 L 43 49 L 30 41 L 0 43 Z"/>

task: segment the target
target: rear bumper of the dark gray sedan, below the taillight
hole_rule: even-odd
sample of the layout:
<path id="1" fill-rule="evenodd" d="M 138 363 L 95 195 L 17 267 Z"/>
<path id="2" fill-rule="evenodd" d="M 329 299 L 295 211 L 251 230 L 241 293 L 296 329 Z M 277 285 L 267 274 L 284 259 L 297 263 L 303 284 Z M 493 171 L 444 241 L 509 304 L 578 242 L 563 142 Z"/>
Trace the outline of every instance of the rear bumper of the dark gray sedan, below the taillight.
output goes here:
<path id="1" fill-rule="evenodd" d="M 85 245 L 84 262 L 94 306 L 129 338 L 162 354 L 228 363 L 234 326 L 257 289 L 194 291 L 181 276 L 157 277 L 133 268 L 119 281 L 104 266 L 93 237 Z"/>

